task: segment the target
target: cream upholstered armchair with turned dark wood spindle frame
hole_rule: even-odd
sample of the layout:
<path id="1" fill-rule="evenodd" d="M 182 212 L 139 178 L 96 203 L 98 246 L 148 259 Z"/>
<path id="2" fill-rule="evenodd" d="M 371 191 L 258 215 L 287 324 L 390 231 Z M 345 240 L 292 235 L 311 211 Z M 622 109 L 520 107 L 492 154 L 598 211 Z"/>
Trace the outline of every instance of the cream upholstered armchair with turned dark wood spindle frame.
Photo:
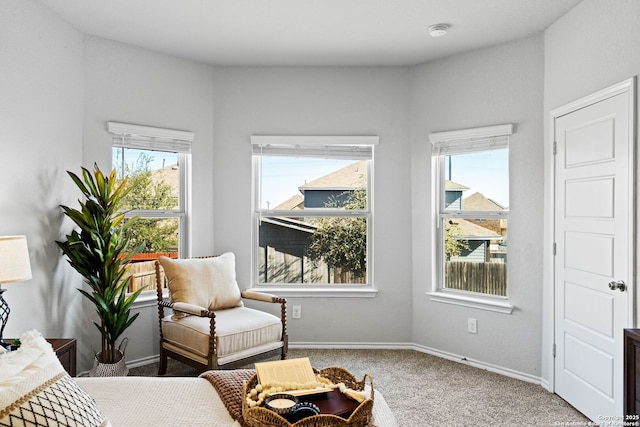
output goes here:
<path id="1" fill-rule="evenodd" d="M 164 280 L 169 301 L 163 297 Z M 166 373 L 167 358 L 196 369 L 230 369 L 280 355 L 286 359 L 287 300 L 259 292 L 240 292 L 235 256 L 156 261 L 160 365 Z M 279 304 L 280 317 L 245 307 L 243 300 Z M 173 310 L 165 315 L 165 308 Z"/>

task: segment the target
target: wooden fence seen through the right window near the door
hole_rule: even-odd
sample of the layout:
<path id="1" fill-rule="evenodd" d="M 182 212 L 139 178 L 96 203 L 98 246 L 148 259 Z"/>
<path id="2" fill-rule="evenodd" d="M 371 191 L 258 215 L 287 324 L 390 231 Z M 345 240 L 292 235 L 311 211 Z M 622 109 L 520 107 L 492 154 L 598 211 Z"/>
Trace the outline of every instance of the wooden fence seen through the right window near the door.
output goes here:
<path id="1" fill-rule="evenodd" d="M 445 288 L 507 296 L 507 264 L 503 262 L 445 263 Z"/>

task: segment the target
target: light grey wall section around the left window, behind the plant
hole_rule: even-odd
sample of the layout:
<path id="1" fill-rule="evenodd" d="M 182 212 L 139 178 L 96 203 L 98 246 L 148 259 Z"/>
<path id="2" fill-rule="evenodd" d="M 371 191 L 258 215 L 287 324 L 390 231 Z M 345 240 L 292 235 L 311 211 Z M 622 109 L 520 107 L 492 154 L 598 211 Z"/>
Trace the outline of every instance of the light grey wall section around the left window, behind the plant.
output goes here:
<path id="1" fill-rule="evenodd" d="M 191 254 L 213 251 L 213 80 L 208 65 L 87 36 L 84 42 L 84 155 L 89 168 L 97 162 L 111 168 L 108 121 L 186 130 L 195 133 L 192 147 Z M 80 164 L 74 165 L 79 170 Z M 155 301 L 155 300 L 154 300 Z M 88 310 L 91 307 L 89 306 Z M 140 317 L 125 332 L 127 360 L 158 354 L 155 302 L 136 309 Z M 98 331 L 86 341 L 99 346 Z M 86 369 L 91 351 L 80 357 Z"/>

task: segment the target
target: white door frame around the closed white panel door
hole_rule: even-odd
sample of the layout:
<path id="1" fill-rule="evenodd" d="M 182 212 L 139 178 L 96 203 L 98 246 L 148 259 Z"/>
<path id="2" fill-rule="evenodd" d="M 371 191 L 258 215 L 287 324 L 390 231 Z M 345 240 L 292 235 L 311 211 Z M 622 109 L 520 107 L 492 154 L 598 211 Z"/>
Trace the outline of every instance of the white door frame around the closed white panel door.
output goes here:
<path id="1" fill-rule="evenodd" d="M 632 238 L 629 239 L 629 253 L 634 262 L 631 263 L 631 279 L 628 284 L 628 325 L 636 327 L 636 274 L 640 267 L 637 256 L 638 227 L 640 224 L 640 214 L 638 213 L 638 196 L 640 195 L 638 185 L 637 167 L 638 150 L 637 144 L 637 117 L 636 117 L 636 77 L 629 78 L 620 83 L 611 85 L 595 93 L 572 101 L 549 112 L 548 139 L 544 147 L 545 157 L 545 215 L 544 215 L 544 237 L 543 237 L 543 289 L 542 289 L 542 355 L 541 355 L 541 385 L 546 390 L 555 393 L 555 131 L 556 119 L 565 114 L 584 108 L 588 105 L 611 98 L 621 93 L 629 93 L 629 135 L 631 135 L 631 147 L 629 147 L 629 171 L 633 185 L 629 188 L 629 197 L 633 200 L 633 213 L 629 216 L 629 226 L 632 230 Z M 622 362 L 622 361 L 620 361 Z"/>

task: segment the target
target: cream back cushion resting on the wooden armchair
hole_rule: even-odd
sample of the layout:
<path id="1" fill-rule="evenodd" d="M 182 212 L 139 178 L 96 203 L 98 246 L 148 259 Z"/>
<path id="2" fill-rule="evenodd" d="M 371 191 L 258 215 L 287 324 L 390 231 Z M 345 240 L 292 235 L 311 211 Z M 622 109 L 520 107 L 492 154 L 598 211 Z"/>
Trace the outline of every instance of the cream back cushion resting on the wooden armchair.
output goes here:
<path id="1" fill-rule="evenodd" d="M 242 305 L 231 252 L 211 258 L 158 259 L 167 277 L 171 302 L 221 310 Z"/>

